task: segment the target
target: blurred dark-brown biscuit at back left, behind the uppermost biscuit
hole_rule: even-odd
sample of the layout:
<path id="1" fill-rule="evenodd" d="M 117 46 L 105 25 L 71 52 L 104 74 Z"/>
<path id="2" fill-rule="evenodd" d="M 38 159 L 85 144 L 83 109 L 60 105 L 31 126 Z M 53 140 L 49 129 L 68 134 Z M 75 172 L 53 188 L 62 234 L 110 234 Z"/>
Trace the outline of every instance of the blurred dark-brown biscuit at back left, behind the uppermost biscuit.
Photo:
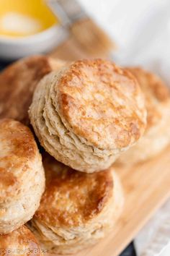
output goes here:
<path id="1" fill-rule="evenodd" d="M 0 74 L 0 118 L 29 124 L 27 111 L 37 83 L 63 64 L 65 62 L 48 56 L 30 56 L 4 69 Z"/>

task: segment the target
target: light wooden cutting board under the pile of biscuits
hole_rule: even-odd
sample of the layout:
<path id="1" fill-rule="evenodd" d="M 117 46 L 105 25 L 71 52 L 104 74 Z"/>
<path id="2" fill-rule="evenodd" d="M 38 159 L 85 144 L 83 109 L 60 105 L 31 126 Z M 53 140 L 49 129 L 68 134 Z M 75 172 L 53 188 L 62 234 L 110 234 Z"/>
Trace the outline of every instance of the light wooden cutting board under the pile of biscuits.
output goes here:
<path id="1" fill-rule="evenodd" d="M 86 54 L 70 38 L 51 56 L 81 59 Z M 135 238 L 153 213 L 170 197 L 170 146 L 146 163 L 132 167 L 115 166 L 125 192 L 125 207 L 112 234 L 99 244 L 74 256 L 117 256 Z"/>

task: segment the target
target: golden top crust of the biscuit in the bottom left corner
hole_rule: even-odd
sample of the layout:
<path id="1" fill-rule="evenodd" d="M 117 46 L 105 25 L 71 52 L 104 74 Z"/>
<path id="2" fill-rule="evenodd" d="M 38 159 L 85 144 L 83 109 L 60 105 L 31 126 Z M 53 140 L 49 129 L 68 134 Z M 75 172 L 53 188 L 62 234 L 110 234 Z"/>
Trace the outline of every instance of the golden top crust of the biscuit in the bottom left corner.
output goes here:
<path id="1" fill-rule="evenodd" d="M 6 255 L 38 255 L 42 256 L 35 236 L 26 226 L 0 236 L 1 256 Z M 31 253 L 32 252 L 32 253 Z"/>

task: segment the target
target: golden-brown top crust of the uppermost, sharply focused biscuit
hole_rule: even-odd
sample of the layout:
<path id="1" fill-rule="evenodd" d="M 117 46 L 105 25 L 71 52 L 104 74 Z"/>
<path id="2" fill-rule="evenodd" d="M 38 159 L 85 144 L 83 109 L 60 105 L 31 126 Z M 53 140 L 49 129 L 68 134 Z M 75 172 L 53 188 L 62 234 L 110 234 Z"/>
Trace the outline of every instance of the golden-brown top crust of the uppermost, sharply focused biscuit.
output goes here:
<path id="1" fill-rule="evenodd" d="M 55 93 L 65 126 L 89 145 L 125 148 L 143 134 L 146 109 L 138 82 L 112 62 L 73 62 L 58 76 Z"/>

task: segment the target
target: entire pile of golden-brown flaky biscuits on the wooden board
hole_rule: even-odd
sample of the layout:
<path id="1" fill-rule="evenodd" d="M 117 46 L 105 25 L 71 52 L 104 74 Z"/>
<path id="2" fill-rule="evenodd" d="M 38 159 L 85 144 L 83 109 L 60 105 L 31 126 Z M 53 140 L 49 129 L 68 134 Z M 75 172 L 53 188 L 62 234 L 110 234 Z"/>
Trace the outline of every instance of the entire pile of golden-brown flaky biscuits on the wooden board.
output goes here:
<path id="1" fill-rule="evenodd" d="M 158 77 L 102 59 L 31 56 L 1 72 L 2 255 L 73 254 L 112 231 L 124 202 L 113 163 L 166 147 L 169 102 Z"/>

